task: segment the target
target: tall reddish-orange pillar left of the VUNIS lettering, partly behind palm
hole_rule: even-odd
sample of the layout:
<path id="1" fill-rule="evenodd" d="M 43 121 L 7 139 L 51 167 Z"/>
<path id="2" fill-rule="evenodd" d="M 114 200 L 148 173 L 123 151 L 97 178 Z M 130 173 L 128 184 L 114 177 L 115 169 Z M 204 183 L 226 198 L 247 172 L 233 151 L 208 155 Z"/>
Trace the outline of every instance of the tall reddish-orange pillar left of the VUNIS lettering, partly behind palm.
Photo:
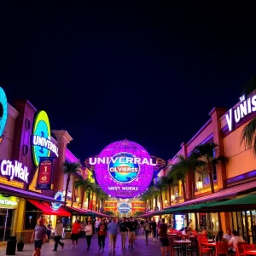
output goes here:
<path id="1" fill-rule="evenodd" d="M 213 108 L 209 113 L 212 119 L 212 134 L 213 134 L 213 142 L 218 144 L 218 148 L 215 152 L 216 157 L 219 155 L 224 155 L 224 140 L 221 134 L 221 122 L 220 118 L 226 109 L 224 108 Z M 216 166 L 217 172 L 217 183 L 218 189 L 224 189 L 226 187 L 226 167 L 224 164 L 218 164 Z"/>

